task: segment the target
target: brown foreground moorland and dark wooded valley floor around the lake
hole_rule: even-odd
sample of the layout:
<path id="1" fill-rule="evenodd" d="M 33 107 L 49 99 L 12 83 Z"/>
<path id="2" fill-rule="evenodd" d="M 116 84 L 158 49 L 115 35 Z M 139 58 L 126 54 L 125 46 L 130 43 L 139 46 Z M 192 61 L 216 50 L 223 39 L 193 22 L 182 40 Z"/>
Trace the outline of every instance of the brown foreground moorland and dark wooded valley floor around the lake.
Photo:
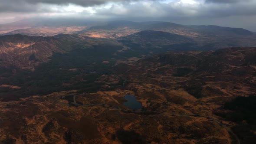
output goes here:
<path id="1" fill-rule="evenodd" d="M 244 118 L 246 113 L 236 117 L 243 104 L 240 109 L 233 105 L 238 103 L 236 97 L 256 94 L 256 48 L 168 52 L 144 59 L 119 57 L 114 54 L 118 49 L 94 46 L 55 53 L 33 72 L 1 69 L 0 141 L 232 144 L 238 137 L 248 144 L 254 140 L 253 117 Z M 141 102 L 139 111 L 123 105 L 127 94 Z"/>

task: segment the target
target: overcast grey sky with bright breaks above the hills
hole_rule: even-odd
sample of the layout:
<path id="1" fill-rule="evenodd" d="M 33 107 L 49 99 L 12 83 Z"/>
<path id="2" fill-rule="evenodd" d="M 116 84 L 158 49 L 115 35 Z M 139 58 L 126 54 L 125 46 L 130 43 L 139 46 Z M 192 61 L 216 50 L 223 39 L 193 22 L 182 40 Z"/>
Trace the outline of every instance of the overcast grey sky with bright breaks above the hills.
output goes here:
<path id="1" fill-rule="evenodd" d="M 256 0 L 0 0 L 0 23 L 34 17 L 159 20 L 256 32 Z"/>

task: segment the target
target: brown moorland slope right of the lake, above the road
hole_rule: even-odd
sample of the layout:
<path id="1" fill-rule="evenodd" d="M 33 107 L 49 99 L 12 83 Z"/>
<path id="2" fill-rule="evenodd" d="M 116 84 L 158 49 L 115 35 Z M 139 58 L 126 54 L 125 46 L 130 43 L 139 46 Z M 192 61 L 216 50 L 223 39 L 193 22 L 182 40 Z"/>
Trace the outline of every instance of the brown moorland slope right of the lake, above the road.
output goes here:
<path id="1" fill-rule="evenodd" d="M 217 117 L 232 128 L 242 144 L 253 144 L 255 57 L 255 47 L 170 52 L 120 64 L 116 69 L 120 70 L 118 76 L 129 79 L 128 89 L 147 99 L 147 110 L 169 111 L 168 106 L 157 102 L 161 97 L 192 113 Z M 189 104 L 192 101 L 187 95 L 197 98 L 195 105 Z"/>

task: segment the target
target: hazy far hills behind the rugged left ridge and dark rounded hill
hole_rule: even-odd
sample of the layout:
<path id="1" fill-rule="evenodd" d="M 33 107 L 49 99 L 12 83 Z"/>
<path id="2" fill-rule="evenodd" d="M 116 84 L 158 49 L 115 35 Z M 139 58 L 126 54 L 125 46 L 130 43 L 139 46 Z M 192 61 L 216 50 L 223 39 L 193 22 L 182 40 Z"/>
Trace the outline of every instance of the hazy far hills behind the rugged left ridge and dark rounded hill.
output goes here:
<path id="1" fill-rule="evenodd" d="M 0 34 L 29 36 L 54 36 L 60 33 L 80 33 L 93 38 L 120 39 L 144 30 L 163 31 L 187 36 L 196 45 L 186 45 L 181 50 L 215 50 L 226 47 L 256 46 L 256 34 L 246 29 L 222 26 L 189 26 L 170 22 L 86 21 L 86 20 L 23 20 L 0 25 Z M 180 47 L 180 46 L 179 46 Z M 187 48 L 186 48 L 187 47 Z M 171 48 L 171 49 L 176 49 Z"/>

